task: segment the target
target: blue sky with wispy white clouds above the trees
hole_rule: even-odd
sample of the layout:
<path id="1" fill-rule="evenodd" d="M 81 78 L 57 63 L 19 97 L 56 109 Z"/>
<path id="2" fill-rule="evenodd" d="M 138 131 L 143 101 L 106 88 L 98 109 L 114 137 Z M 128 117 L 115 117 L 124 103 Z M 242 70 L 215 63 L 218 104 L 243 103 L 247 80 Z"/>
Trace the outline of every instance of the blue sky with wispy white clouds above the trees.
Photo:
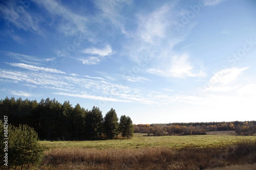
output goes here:
<path id="1" fill-rule="evenodd" d="M 256 120 L 254 0 L 0 1 L 0 99 L 134 124 Z"/>

